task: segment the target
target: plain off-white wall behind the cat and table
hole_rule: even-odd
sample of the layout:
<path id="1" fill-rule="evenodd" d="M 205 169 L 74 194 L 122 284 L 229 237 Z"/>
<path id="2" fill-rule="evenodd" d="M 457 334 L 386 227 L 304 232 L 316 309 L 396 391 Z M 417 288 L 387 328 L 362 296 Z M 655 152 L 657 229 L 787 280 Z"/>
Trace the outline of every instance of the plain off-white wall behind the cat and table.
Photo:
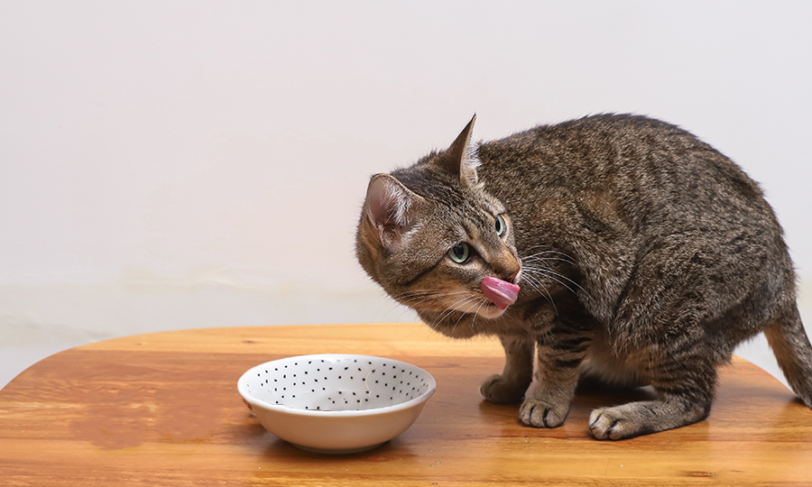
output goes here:
<path id="1" fill-rule="evenodd" d="M 761 181 L 812 282 L 810 20 L 775 1 L 0 0 L 0 385 L 117 335 L 415 319 L 355 263 L 357 211 L 370 174 L 473 113 L 484 139 L 607 111 L 681 124 Z"/>

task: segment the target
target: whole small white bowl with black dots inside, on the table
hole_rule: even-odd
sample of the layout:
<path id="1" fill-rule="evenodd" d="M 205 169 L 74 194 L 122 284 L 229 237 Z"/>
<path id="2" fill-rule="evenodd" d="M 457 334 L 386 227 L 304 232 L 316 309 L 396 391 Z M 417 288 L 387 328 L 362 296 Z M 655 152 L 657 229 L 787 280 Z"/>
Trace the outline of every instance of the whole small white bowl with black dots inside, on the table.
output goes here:
<path id="1" fill-rule="evenodd" d="M 237 389 L 263 427 L 303 450 L 371 450 L 406 431 L 437 384 L 410 363 L 349 354 L 257 365 Z"/>

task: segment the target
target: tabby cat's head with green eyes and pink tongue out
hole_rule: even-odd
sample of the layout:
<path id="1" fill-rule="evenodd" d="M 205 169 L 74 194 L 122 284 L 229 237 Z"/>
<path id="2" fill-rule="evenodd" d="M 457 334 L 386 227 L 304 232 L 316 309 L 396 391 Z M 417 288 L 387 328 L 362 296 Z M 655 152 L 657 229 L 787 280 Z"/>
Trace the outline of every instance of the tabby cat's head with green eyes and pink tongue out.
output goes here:
<path id="1" fill-rule="evenodd" d="M 518 292 L 511 218 L 479 179 L 473 126 L 474 119 L 446 151 L 376 174 L 367 188 L 358 261 L 392 298 L 419 312 L 499 317 Z M 506 288 L 513 290 L 500 297 Z"/>

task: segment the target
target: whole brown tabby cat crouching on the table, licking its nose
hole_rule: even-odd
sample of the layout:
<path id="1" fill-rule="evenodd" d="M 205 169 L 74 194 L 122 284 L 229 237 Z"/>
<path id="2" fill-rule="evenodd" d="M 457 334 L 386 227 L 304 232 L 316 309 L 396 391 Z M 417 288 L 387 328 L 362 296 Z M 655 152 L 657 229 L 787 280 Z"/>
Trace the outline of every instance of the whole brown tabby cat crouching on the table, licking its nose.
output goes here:
<path id="1" fill-rule="evenodd" d="M 439 333 L 501 340 L 504 369 L 482 383 L 485 400 L 522 401 L 522 423 L 558 427 L 579 380 L 650 385 L 652 400 L 595 409 L 591 435 L 683 427 L 708 416 L 716 368 L 764 332 L 812 408 L 783 231 L 733 161 L 642 115 L 494 142 L 475 142 L 474 122 L 447 150 L 372 177 L 355 250 Z"/>

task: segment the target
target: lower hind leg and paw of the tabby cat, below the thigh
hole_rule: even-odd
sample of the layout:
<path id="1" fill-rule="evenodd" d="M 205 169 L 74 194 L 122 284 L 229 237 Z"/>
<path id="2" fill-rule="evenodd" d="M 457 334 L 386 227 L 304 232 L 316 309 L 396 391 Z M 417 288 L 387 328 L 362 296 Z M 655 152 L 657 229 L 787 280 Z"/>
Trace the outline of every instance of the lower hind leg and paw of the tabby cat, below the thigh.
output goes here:
<path id="1" fill-rule="evenodd" d="M 656 400 L 595 409 L 589 430 L 597 439 L 624 439 L 701 421 L 714 400 L 716 370 L 703 354 L 671 354 L 651 369 Z"/>

